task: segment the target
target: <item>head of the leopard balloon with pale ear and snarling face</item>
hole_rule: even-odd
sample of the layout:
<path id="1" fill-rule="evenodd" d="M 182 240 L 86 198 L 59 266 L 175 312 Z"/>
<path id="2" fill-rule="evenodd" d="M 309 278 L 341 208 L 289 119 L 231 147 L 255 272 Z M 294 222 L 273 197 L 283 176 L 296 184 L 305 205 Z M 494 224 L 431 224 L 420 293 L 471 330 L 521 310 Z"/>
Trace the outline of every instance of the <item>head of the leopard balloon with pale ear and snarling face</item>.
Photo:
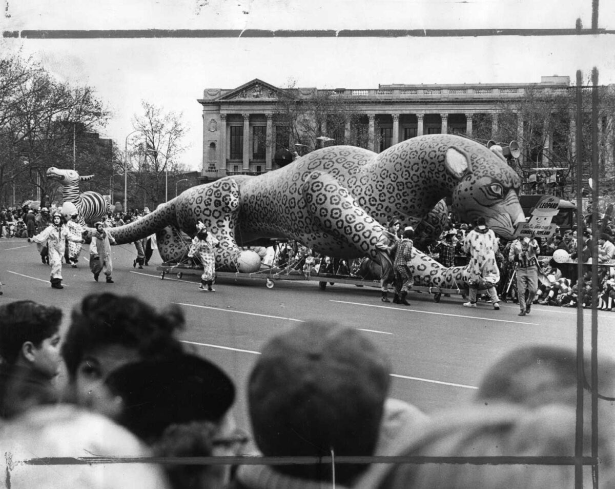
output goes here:
<path id="1" fill-rule="evenodd" d="M 500 151 L 498 151 L 500 150 Z M 525 220 L 518 199 L 521 179 L 508 164 L 499 146 L 451 147 L 445 168 L 457 180 L 453 211 L 466 222 L 485 217 L 488 226 L 502 238 L 512 239 L 515 224 Z"/>

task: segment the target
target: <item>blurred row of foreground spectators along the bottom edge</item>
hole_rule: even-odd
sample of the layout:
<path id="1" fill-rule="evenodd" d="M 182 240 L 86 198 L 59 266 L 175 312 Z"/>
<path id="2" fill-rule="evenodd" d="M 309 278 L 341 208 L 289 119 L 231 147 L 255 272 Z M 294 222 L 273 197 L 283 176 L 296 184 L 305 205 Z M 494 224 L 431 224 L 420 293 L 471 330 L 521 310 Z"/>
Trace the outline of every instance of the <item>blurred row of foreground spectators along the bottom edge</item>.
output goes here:
<path id="1" fill-rule="evenodd" d="M 391 360 L 359 329 L 321 321 L 288 328 L 266 340 L 247 379 L 231 379 L 178 340 L 185 325 L 178 305 L 157 310 L 137 297 L 92 294 L 74 306 L 63 337 L 61 318 L 57 307 L 32 301 L 0 305 L 7 487 L 574 486 L 572 464 L 485 463 L 490 456 L 573 459 L 574 349 L 518 347 L 486 369 L 472 399 L 424 413 L 411 391 L 410 402 L 391 397 Z M 68 382 L 59 389 L 62 368 Z M 589 360 L 584 368 L 584 399 L 592 389 L 599 399 L 597 487 L 610 488 L 615 359 L 599 358 L 595 386 Z M 233 416 L 237 382 L 245 382 L 249 427 Z M 592 409 L 583 412 L 589 456 Z M 113 463 L 118 456 L 122 463 Z M 254 464 L 255 456 L 268 461 Z M 394 459 L 382 463 L 386 456 Z M 427 463 L 404 463 L 405 456 Z M 52 459 L 27 463 L 33 457 Z M 457 457 L 469 459 L 446 463 Z"/>

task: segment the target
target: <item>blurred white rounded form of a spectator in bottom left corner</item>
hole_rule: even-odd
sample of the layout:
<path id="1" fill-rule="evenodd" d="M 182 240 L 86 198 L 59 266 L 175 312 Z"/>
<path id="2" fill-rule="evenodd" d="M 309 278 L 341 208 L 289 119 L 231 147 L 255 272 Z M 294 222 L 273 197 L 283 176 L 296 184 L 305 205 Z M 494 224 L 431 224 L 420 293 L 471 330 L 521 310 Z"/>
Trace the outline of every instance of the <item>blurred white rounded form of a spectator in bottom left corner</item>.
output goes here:
<path id="1" fill-rule="evenodd" d="M 115 457 L 135 459 L 151 452 L 128 430 L 96 413 L 74 406 L 28 411 L 0 426 L 2 467 L 12 489 L 167 489 L 161 467 L 147 463 L 100 463 Z M 84 463 L 93 457 L 98 463 Z M 36 464 L 28 463 L 33 460 Z"/>

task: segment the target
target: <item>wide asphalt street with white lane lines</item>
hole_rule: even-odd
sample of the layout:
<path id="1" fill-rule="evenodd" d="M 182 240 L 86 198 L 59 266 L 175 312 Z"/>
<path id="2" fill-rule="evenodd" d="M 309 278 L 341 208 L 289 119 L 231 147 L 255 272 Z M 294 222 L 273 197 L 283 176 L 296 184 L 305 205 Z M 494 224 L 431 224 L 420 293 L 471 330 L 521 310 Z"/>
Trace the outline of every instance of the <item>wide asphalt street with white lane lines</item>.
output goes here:
<path id="1" fill-rule="evenodd" d="M 454 408 L 471 400 L 485 370 L 499 357 L 523 344 L 576 347 L 576 310 L 534 305 L 530 315 L 518 317 L 517 304 L 462 307 L 461 296 L 435 303 L 426 293 L 411 292 L 410 306 L 385 304 L 379 290 L 315 281 L 276 280 L 269 289 L 263 279 L 222 278 L 215 293 L 199 291 L 199 276 L 175 273 L 161 280 L 157 252 L 143 270 L 132 266 L 133 245 L 113 248 L 115 283 L 93 280 L 87 248 L 79 268 L 63 265 L 65 289 L 50 288 L 49 267 L 41 264 L 34 243 L 0 239 L 0 303 L 33 299 L 70 311 L 90 293 L 130 294 L 156 307 L 180 304 L 186 315 L 181 339 L 220 365 L 234 379 L 238 397 L 234 411 L 248 427 L 245 384 L 268 339 L 308 320 L 337 321 L 358 328 L 391 357 L 392 397 L 406 400 L 427 413 Z M 584 312 L 586 350 L 590 348 L 590 311 Z M 598 350 L 615 356 L 615 312 L 598 312 Z M 588 353 L 589 354 L 589 353 Z"/>

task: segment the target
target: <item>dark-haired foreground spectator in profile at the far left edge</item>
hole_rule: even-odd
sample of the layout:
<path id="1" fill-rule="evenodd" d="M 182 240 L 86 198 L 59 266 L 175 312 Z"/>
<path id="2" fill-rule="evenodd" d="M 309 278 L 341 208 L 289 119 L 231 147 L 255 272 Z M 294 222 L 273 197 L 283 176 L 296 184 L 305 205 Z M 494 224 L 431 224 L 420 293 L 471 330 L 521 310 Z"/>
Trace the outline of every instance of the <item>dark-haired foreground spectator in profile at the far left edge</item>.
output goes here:
<path id="1" fill-rule="evenodd" d="M 57 398 L 62 310 L 33 301 L 0 305 L 0 418 Z"/>

